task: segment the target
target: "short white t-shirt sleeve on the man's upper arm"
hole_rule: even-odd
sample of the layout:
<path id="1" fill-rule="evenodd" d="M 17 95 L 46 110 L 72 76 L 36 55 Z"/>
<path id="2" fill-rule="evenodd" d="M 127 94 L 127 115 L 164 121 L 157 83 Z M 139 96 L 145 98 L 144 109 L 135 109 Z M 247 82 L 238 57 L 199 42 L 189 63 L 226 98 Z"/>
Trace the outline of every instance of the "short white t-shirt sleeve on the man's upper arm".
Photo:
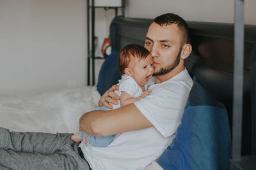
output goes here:
<path id="1" fill-rule="evenodd" d="M 152 88 L 149 96 L 134 104 L 166 138 L 177 131 L 190 89 L 182 83 L 171 82 Z"/>

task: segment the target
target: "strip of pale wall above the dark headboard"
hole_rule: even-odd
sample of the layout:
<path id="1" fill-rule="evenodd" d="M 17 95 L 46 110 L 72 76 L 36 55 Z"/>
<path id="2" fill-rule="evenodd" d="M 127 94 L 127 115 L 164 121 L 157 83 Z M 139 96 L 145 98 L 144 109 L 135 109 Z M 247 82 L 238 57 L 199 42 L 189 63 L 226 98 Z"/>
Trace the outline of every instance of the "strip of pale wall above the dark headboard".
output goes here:
<path id="1" fill-rule="evenodd" d="M 155 18 L 176 13 L 185 20 L 234 23 L 235 0 L 126 0 L 126 17 Z M 244 22 L 256 24 L 256 1 L 244 1 Z"/>

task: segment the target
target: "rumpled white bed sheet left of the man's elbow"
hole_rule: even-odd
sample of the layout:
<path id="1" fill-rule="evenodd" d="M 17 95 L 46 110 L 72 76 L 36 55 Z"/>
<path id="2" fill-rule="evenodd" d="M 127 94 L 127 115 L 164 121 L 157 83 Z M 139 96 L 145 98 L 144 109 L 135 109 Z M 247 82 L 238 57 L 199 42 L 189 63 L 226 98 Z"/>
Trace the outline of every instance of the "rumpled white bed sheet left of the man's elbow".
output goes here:
<path id="1" fill-rule="evenodd" d="M 99 98 L 96 87 L 0 97 L 0 127 L 19 132 L 76 133 L 79 118 L 93 110 Z"/>

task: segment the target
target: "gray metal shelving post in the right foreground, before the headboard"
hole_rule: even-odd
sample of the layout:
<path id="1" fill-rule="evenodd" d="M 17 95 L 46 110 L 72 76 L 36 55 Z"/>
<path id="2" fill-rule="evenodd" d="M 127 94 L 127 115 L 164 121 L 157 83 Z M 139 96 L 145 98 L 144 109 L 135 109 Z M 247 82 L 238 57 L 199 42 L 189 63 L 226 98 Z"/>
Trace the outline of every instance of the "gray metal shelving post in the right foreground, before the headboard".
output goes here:
<path id="1" fill-rule="evenodd" d="M 244 0 L 235 0 L 234 33 L 234 98 L 232 120 L 232 157 L 230 159 L 230 169 L 256 169 L 256 155 L 253 155 L 255 154 L 253 151 L 251 155 L 241 156 L 243 118 Z M 252 69 L 254 72 L 255 65 L 256 64 L 254 63 L 254 68 Z M 253 75 L 255 76 L 255 74 Z"/>

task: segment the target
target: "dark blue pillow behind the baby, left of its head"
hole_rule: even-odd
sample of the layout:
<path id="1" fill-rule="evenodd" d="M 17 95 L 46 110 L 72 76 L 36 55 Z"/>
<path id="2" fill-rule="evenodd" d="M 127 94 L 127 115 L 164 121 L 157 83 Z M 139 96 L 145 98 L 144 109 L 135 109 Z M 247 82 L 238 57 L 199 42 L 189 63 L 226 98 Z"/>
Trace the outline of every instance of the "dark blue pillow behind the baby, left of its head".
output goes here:
<path id="1" fill-rule="evenodd" d="M 97 90 L 101 96 L 121 79 L 121 74 L 117 66 L 117 55 L 118 52 L 111 52 L 100 67 Z"/>

